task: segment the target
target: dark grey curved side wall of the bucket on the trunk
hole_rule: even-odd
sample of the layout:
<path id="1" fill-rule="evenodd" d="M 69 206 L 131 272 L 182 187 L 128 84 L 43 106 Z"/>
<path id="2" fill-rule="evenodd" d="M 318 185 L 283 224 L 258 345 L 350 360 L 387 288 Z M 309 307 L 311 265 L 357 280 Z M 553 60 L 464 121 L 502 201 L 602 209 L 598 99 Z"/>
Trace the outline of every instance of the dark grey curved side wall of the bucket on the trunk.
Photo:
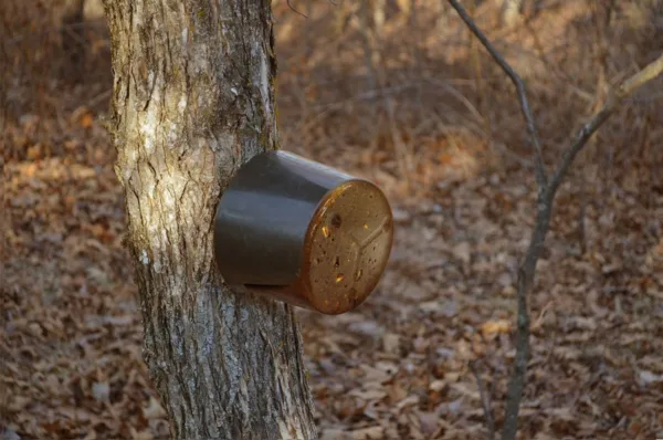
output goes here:
<path id="1" fill-rule="evenodd" d="M 214 251 L 229 284 L 295 282 L 311 219 L 348 175 L 285 151 L 253 157 L 217 210 Z"/>

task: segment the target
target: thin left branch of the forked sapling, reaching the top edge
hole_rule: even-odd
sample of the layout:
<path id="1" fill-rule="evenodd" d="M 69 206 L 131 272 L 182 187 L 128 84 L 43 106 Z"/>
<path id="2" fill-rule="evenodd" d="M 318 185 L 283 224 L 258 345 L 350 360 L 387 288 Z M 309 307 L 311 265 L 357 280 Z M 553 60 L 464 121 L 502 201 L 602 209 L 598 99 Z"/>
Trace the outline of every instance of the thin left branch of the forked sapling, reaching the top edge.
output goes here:
<path id="1" fill-rule="evenodd" d="M 516 92 L 518 94 L 518 101 L 520 103 L 520 112 L 523 112 L 523 116 L 525 117 L 525 123 L 527 125 L 527 130 L 529 132 L 529 140 L 535 151 L 535 169 L 536 169 L 536 181 L 539 186 L 539 189 L 547 185 L 547 176 L 546 176 L 546 165 L 544 164 L 544 156 L 541 151 L 541 143 L 539 140 L 538 132 L 536 129 L 536 125 L 534 123 L 534 116 L 532 115 L 532 109 L 529 107 L 529 101 L 527 99 L 527 91 L 525 88 L 525 83 L 520 78 L 520 76 L 514 71 L 514 69 L 504 60 L 504 56 L 495 49 L 493 43 L 488 41 L 486 35 L 478 29 L 478 27 L 474 23 L 474 20 L 467 14 L 467 11 L 459 3 L 457 0 L 449 0 L 449 3 L 456 10 L 461 19 L 465 22 L 467 28 L 472 31 L 472 33 L 481 41 L 483 46 L 488 51 L 493 60 L 499 67 L 506 73 L 506 75 L 511 78 L 512 83 L 516 86 Z"/>

